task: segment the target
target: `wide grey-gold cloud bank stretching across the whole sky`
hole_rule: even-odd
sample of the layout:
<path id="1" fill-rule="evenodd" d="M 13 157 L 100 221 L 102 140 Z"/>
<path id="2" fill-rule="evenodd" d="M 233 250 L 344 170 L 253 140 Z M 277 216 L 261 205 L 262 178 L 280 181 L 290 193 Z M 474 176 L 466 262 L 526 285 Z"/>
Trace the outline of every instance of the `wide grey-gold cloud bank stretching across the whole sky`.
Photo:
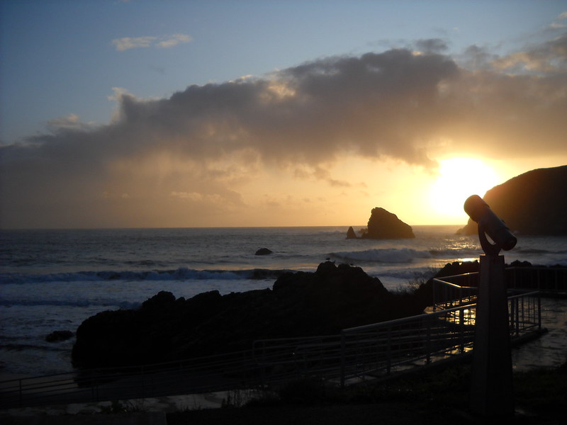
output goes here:
<path id="1" fill-rule="evenodd" d="M 89 225 L 230 217 L 247 205 L 242 188 L 258 179 L 354 186 L 328 171 L 347 157 L 434 169 L 447 149 L 564 154 L 565 41 L 506 57 L 476 47 L 469 53 L 483 67 L 473 69 L 408 48 L 322 58 L 169 98 L 115 89 L 108 125 L 84 128 L 69 115 L 46 134 L 0 147 L 1 224 L 33 225 L 39 211 L 64 227 L 77 217 Z"/>

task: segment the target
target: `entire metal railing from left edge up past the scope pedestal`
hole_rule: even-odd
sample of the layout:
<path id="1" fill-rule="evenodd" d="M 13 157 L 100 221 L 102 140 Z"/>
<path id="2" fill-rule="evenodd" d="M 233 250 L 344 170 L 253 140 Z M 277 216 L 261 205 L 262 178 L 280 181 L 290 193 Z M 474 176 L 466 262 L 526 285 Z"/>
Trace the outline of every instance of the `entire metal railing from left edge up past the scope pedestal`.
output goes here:
<path id="1" fill-rule="evenodd" d="M 541 330 L 537 292 L 508 302 L 512 339 Z M 263 387 L 305 376 L 349 385 L 469 353 L 475 312 L 466 303 L 339 335 L 254 341 L 251 351 L 3 381 L 0 409 Z"/>

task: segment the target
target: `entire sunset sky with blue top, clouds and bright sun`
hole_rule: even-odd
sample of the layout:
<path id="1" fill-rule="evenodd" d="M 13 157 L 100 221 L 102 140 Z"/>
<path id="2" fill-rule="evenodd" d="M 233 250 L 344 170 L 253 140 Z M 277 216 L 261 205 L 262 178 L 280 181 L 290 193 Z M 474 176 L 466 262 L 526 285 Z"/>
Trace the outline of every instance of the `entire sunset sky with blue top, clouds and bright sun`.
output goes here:
<path id="1" fill-rule="evenodd" d="M 0 1 L 0 228 L 465 224 L 567 164 L 565 1 Z"/>

